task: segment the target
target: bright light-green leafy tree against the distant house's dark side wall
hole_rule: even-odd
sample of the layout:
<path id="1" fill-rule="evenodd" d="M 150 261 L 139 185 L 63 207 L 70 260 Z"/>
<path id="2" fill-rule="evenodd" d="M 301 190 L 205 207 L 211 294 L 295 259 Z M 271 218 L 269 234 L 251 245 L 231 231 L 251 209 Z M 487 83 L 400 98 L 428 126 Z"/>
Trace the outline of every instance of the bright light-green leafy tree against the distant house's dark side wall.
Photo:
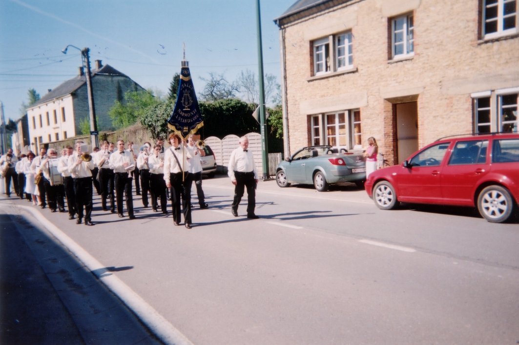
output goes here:
<path id="1" fill-rule="evenodd" d="M 123 102 L 115 101 L 108 111 L 108 116 L 116 129 L 128 127 L 138 122 L 146 109 L 155 106 L 158 102 L 152 91 L 128 91 L 125 93 Z"/>

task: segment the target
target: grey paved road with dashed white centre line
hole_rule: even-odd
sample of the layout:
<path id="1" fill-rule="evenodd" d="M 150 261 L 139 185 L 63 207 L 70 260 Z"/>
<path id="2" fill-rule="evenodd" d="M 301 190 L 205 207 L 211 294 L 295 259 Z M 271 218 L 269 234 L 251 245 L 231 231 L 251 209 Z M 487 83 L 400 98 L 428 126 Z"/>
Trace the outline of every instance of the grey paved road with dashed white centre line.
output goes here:
<path id="1" fill-rule="evenodd" d="M 352 186 L 274 181 L 258 185 L 262 219 L 247 220 L 245 206 L 230 215 L 228 179 L 203 183 L 210 209 L 194 210 L 191 230 L 138 200 L 134 221 L 96 203 L 93 227 L 42 214 L 95 258 L 99 280 L 117 278 L 165 320 L 159 333 L 196 344 L 519 340 L 517 224 L 467 209 L 380 211 Z M 25 214 L 28 203 L 4 204 Z"/>

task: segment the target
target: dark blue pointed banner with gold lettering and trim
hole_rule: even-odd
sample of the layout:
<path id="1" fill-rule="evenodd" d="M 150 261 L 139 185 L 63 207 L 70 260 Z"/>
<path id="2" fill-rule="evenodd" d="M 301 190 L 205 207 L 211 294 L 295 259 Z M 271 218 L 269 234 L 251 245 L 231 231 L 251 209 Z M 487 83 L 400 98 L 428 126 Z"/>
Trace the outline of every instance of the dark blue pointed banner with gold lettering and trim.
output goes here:
<path id="1" fill-rule="evenodd" d="M 173 133 L 180 135 L 182 139 L 187 139 L 190 134 L 195 134 L 202 126 L 202 113 L 198 107 L 193 80 L 189 72 L 189 63 L 183 60 L 179 90 L 176 95 L 175 107 L 168 120 L 168 128 Z"/>

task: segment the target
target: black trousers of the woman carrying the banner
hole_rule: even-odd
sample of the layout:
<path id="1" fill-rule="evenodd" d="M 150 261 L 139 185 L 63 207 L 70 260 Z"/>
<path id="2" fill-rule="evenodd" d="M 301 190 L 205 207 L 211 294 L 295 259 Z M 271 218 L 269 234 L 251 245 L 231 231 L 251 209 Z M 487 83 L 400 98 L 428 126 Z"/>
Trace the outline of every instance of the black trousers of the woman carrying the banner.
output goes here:
<path id="1" fill-rule="evenodd" d="M 191 187 L 193 178 L 189 172 L 184 172 L 184 181 L 182 181 L 182 172 L 169 174 L 169 182 L 171 183 L 171 206 L 173 208 L 173 221 L 180 223 L 180 203 L 182 202 L 182 210 L 184 213 L 184 222 L 191 224 Z"/>

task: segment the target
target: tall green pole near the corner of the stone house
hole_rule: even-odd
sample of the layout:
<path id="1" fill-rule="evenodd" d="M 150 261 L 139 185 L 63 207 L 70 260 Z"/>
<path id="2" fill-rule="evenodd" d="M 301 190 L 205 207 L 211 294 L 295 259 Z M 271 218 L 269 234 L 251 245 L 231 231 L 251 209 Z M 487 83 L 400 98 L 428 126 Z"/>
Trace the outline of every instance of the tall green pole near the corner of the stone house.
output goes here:
<path id="1" fill-rule="evenodd" d="M 258 35 L 258 80 L 260 81 L 260 130 L 262 143 L 262 162 L 263 162 L 263 180 L 268 180 L 270 175 L 268 171 L 268 143 L 267 143 L 267 124 L 265 119 L 265 87 L 263 80 L 263 44 L 261 35 L 261 15 L 260 0 L 256 0 L 256 18 L 257 18 L 257 35 Z"/>

